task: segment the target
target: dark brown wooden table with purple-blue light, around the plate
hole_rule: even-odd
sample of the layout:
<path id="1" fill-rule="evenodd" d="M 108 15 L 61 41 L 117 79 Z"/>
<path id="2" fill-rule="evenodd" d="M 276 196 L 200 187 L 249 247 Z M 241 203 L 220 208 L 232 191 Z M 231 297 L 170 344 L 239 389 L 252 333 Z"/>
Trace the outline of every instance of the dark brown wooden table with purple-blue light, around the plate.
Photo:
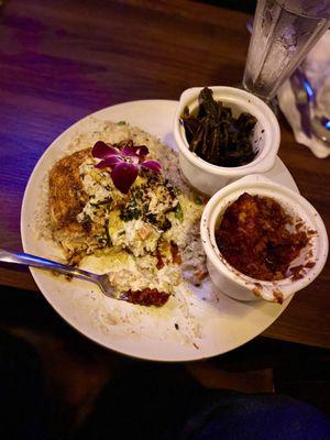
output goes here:
<path id="1" fill-rule="evenodd" d="M 193 1 L 9 0 L 0 12 L 1 248 L 21 250 L 29 176 L 50 143 L 86 114 L 191 86 L 240 82 L 248 15 Z M 279 156 L 330 224 L 329 160 L 295 142 L 282 119 Z M 330 270 L 296 295 L 264 336 L 330 346 Z M 37 293 L 29 271 L 0 284 Z"/>

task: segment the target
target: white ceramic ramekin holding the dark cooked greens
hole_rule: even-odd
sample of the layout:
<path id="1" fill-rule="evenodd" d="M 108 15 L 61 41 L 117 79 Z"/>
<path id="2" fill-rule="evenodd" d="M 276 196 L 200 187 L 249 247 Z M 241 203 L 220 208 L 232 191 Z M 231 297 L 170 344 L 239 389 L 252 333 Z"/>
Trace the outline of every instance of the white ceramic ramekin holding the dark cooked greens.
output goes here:
<path id="1" fill-rule="evenodd" d="M 260 98 L 234 87 L 209 88 L 212 89 L 216 100 L 232 109 L 235 118 L 246 111 L 257 119 L 252 144 L 258 150 L 250 164 L 237 167 L 217 166 L 190 152 L 180 117 L 185 107 L 188 107 L 190 112 L 198 108 L 198 96 L 202 87 L 185 90 L 180 96 L 174 120 L 174 136 L 179 148 L 179 164 L 188 183 L 200 193 L 211 196 L 230 182 L 249 174 L 272 169 L 279 147 L 280 134 L 275 114 Z"/>

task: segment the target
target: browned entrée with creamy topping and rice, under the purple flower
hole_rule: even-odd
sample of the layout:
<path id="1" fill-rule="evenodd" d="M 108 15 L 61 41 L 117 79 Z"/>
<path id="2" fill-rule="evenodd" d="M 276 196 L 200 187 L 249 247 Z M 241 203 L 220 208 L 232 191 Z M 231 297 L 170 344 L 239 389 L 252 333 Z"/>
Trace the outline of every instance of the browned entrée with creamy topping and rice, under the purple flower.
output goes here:
<path id="1" fill-rule="evenodd" d="M 185 279 L 198 285 L 207 273 L 199 239 L 204 201 L 183 182 L 177 154 L 154 136 L 123 122 L 97 127 L 77 135 L 50 170 L 47 228 L 69 264 L 106 257 L 119 295 L 148 305 L 146 294 L 153 294 L 151 304 L 162 305 Z M 117 151 L 105 160 L 108 166 L 96 157 L 96 143 Z M 139 168 L 129 187 L 125 166 Z M 116 173 L 127 190 L 118 189 Z"/>

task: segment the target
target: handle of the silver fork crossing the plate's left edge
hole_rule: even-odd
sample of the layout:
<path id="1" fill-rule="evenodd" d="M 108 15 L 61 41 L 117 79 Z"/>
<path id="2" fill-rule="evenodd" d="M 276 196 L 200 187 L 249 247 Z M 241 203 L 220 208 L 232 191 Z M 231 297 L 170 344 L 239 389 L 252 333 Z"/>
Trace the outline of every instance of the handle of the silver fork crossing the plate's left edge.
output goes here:
<path id="1" fill-rule="evenodd" d="M 57 263 L 52 260 L 42 258 L 31 254 L 24 254 L 22 252 L 9 252 L 0 249 L 0 262 L 22 264 L 25 266 L 33 266 L 45 268 L 48 271 L 56 271 L 65 275 L 72 275 L 77 278 L 94 280 L 97 283 L 97 275 L 80 268 L 68 266 L 66 264 Z"/>

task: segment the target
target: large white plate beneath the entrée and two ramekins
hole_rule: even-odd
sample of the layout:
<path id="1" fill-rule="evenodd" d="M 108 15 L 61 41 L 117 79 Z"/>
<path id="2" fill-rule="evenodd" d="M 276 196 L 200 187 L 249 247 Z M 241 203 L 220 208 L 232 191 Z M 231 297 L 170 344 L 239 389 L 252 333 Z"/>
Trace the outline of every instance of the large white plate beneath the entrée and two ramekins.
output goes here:
<path id="1" fill-rule="evenodd" d="M 133 101 L 100 110 L 92 117 L 113 122 L 124 120 L 177 150 L 172 134 L 176 107 L 176 101 L 168 100 Z M 21 211 L 21 235 L 28 253 L 48 258 L 58 256 L 54 245 L 35 238 L 35 211 L 44 176 L 87 118 L 50 145 L 30 177 Z M 279 158 L 265 176 L 298 191 Z M 48 302 L 76 330 L 111 350 L 155 361 L 193 361 L 233 350 L 270 327 L 292 299 L 282 306 L 265 301 L 240 302 L 221 293 L 215 295 L 212 285 L 206 280 L 179 312 L 170 305 L 154 310 L 106 298 L 90 283 L 67 282 L 41 270 L 31 270 L 31 273 Z"/>

